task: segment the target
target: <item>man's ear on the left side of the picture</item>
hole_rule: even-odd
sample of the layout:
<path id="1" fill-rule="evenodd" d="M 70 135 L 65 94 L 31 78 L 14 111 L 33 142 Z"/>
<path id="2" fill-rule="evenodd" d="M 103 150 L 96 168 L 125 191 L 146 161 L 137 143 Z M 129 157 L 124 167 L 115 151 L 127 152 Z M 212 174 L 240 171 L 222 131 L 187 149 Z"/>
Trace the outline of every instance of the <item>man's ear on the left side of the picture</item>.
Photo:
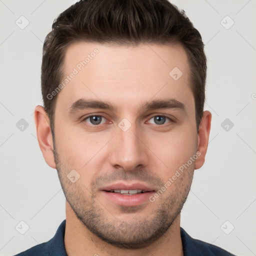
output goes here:
<path id="1" fill-rule="evenodd" d="M 44 107 L 40 105 L 35 107 L 34 122 L 36 126 L 37 139 L 43 154 L 43 158 L 50 167 L 55 169 L 56 164 L 53 155 L 53 140 L 50 130 L 50 121 Z"/>

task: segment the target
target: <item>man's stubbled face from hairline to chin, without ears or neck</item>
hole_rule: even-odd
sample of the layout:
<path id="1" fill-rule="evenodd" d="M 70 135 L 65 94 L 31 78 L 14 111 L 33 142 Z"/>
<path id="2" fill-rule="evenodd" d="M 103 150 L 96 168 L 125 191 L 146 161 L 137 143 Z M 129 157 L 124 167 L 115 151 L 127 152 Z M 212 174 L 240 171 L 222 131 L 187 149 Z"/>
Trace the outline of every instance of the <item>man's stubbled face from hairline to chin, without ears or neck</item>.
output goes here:
<path id="1" fill-rule="evenodd" d="M 98 52 L 90 54 L 95 48 Z M 89 61 L 79 65 L 87 54 Z M 185 50 L 73 43 L 64 71 L 75 75 L 57 94 L 54 157 L 66 199 L 101 239 L 143 247 L 179 215 L 195 167 L 189 161 L 196 158 L 197 132 Z M 113 109 L 76 104 L 70 111 L 79 99 L 107 102 Z M 148 108 L 156 100 L 176 101 L 169 108 Z"/>

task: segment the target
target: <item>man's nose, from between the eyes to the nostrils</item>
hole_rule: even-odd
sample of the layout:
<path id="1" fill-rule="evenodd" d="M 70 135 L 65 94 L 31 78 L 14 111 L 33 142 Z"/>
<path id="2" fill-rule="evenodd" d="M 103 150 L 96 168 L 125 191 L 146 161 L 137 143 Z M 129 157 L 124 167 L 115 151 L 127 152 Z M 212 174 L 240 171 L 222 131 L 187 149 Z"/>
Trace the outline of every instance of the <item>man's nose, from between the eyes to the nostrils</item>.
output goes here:
<path id="1" fill-rule="evenodd" d="M 148 164 L 148 149 L 142 132 L 132 124 L 124 131 L 117 126 L 116 135 L 111 143 L 110 164 L 115 168 L 133 170 Z"/>

